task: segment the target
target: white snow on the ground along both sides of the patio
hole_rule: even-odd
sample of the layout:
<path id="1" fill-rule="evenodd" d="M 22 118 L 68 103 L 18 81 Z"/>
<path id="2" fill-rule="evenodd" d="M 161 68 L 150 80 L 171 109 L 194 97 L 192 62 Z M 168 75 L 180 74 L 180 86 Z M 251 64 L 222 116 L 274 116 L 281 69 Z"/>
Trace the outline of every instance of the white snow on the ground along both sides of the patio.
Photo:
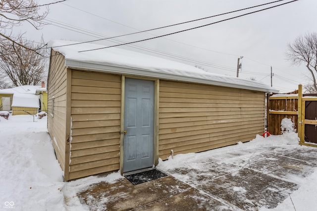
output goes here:
<path id="1" fill-rule="evenodd" d="M 90 176 L 63 182 L 63 172 L 55 158 L 46 126 L 47 117 L 35 118 L 35 122 L 30 115 L 10 116 L 8 120 L 0 117 L 0 210 L 85 211 L 88 207 L 80 204 L 77 197 L 80 191 L 87 189 L 93 183 L 101 181 L 113 183 L 122 178 L 118 172 L 114 172 L 107 176 Z M 248 162 L 256 159 L 257 155 L 260 156 L 261 148 L 264 146 L 279 146 L 284 149 L 305 147 L 298 145 L 297 134 L 291 131 L 287 121 L 284 128 L 283 135 L 271 135 L 266 138 L 257 136 L 248 143 L 240 142 L 234 146 L 203 153 L 176 155 L 173 159 L 169 158 L 164 162 L 160 160 L 158 168 L 168 171 L 168 169 L 188 167 L 207 174 L 204 161 L 216 157 L 223 159 L 225 165 L 231 165 L 232 169 L 229 170 L 234 173 L 237 165 L 233 164 L 237 159 L 226 157 L 226 152 L 236 151 L 239 159 L 245 161 L 245 165 L 249 165 Z M 190 174 L 173 173 L 172 175 L 184 182 L 191 180 L 195 184 L 193 180 L 196 178 Z M 300 185 L 299 188 L 272 210 L 290 211 L 295 210 L 294 207 L 296 211 L 315 210 L 317 169 L 306 178 L 289 179 L 290 181 L 295 179 Z M 241 193 L 245 191 L 241 187 L 232 188 Z M 268 209 L 260 208 L 260 211 L 268 211 Z"/>

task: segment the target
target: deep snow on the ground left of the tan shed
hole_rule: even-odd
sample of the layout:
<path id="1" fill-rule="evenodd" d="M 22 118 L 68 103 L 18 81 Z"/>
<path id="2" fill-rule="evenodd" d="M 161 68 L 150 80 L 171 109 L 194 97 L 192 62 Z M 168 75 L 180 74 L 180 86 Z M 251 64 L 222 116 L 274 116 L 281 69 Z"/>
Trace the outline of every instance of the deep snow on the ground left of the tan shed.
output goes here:
<path id="1" fill-rule="evenodd" d="M 31 115 L 0 117 L 0 210 L 87 210 L 76 197 L 81 188 L 121 178 L 113 173 L 63 182 L 46 127 L 47 117 L 35 117 L 34 122 Z"/>

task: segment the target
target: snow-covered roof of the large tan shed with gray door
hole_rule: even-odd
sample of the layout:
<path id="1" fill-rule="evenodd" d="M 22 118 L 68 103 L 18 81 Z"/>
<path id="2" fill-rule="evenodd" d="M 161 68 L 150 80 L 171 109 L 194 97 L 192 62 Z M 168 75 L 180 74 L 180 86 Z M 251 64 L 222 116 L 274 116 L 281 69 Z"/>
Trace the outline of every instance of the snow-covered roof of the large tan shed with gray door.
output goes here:
<path id="1" fill-rule="evenodd" d="M 278 92 L 278 90 L 259 82 L 212 74 L 183 63 L 116 47 L 79 52 L 105 46 L 91 43 L 75 43 L 78 42 L 53 40 L 49 42 L 49 46 L 65 57 L 65 66 L 69 68 Z"/>

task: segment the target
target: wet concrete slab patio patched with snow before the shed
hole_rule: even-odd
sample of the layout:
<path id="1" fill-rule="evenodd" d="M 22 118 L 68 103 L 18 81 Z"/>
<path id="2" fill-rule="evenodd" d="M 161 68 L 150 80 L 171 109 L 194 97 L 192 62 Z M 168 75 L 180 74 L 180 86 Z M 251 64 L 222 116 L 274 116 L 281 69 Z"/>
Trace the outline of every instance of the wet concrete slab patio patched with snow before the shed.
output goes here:
<path id="1" fill-rule="evenodd" d="M 315 168 L 316 148 L 240 148 L 164 169 L 168 176 L 138 185 L 125 178 L 93 184 L 78 197 L 92 211 L 255 211 L 275 208 Z"/>

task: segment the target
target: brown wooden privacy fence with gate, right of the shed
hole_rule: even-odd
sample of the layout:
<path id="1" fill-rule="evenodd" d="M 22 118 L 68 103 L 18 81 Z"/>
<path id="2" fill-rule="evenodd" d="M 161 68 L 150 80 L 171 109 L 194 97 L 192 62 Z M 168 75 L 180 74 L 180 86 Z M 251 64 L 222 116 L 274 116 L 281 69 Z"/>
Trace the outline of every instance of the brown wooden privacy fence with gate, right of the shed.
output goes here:
<path id="1" fill-rule="evenodd" d="M 298 132 L 301 145 L 317 146 L 317 94 L 302 94 L 298 90 L 286 94 L 270 94 L 267 97 L 267 129 L 279 135 L 281 121 L 291 119 Z"/>

